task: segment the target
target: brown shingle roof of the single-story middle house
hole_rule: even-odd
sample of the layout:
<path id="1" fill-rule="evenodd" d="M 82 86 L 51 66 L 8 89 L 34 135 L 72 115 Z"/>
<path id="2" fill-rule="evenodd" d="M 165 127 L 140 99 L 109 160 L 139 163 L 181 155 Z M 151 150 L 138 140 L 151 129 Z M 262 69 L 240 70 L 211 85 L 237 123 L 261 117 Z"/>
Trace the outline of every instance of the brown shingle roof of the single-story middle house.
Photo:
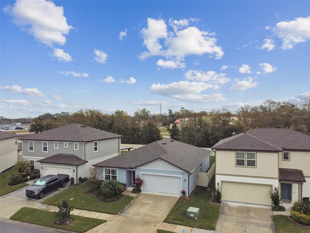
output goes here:
<path id="1" fill-rule="evenodd" d="M 93 166 L 136 168 L 156 159 L 162 159 L 174 166 L 191 173 L 211 153 L 175 140 L 159 140 L 102 161 Z"/>

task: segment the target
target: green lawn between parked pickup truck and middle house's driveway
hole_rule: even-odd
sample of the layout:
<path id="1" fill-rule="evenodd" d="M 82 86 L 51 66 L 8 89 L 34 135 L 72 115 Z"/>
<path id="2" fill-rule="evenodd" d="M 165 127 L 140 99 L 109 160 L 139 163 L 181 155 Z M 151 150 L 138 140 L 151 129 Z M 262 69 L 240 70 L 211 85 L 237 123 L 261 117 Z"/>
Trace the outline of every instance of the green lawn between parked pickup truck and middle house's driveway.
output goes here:
<path id="1" fill-rule="evenodd" d="M 92 182 L 87 181 L 80 186 L 72 186 L 43 201 L 45 204 L 57 205 L 61 200 L 67 200 L 69 205 L 76 209 L 97 211 L 116 215 L 133 197 L 123 196 L 120 200 L 113 202 L 99 201 L 94 195 L 86 192 L 91 188 Z"/>

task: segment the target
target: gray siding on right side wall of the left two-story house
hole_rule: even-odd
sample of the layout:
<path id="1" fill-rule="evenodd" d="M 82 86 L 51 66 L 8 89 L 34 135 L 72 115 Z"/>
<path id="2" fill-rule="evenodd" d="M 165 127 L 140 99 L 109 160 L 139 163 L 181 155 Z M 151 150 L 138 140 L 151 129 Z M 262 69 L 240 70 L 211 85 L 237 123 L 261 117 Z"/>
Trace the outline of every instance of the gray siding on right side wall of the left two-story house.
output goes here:
<path id="1" fill-rule="evenodd" d="M 93 160 L 97 158 L 102 158 L 102 161 L 105 160 L 105 157 L 110 155 L 119 155 L 120 143 L 119 138 L 111 138 L 98 141 L 98 151 L 93 152 L 93 142 L 87 142 L 85 145 L 85 160 Z"/>

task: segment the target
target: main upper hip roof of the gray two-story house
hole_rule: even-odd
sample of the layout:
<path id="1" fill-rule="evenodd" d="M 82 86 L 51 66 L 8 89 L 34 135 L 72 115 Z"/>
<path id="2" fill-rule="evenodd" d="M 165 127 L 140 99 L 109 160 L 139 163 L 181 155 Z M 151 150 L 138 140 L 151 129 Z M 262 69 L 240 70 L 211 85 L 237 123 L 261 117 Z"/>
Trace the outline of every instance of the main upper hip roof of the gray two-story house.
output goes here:
<path id="1" fill-rule="evenodd" d="M 42 133 L 30 134 L 24 137 L 23 140 L 90 142 L 117 137 L 122 137 L 122 135 L 85 125 L 68 124 Z"/>

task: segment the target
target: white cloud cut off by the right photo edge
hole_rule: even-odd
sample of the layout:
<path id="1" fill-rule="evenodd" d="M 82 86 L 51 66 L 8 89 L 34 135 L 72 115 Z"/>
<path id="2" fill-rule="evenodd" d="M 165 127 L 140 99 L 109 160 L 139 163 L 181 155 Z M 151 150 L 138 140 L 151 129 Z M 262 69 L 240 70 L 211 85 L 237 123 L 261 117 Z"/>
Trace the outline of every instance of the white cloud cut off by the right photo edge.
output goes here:
<path id="1" fill-rule="evenodd" d="M 310 40 L 310 16 L 281 21 L 273 28 L 273 32 L 282 39 L 282 49 L 293 49 L 297 43 Z"/>

